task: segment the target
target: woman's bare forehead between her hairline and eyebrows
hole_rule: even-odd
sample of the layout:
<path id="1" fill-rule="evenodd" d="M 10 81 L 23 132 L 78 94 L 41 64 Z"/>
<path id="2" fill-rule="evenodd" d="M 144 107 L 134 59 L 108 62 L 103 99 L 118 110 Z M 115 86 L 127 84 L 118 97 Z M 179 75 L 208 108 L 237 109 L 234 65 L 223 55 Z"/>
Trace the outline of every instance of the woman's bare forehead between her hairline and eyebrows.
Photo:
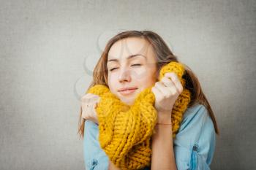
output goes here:
<path id="1" fill-rule="evenodd" d="M 142 54 L 149 61 L 154 60 L 154 49 L 150 43 L 143 38 L 129 37 L 115 42 L 108 52 L 108 59 L 125 59 L 129 55 Z"/>

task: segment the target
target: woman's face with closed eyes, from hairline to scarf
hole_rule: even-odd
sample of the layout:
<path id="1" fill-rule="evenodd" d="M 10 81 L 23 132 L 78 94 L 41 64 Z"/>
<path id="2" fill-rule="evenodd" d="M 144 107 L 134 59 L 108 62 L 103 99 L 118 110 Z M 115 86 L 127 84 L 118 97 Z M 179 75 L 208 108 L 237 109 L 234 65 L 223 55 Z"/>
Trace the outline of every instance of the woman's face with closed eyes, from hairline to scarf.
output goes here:
<path id="1" fill-rule="evenodd" d="M 154 49 L 146 39 L 118 40 L 109 50 L 107 64 L 110 91 L 125 104 L 132 105 L 138 93 L 157 81 Z"/>

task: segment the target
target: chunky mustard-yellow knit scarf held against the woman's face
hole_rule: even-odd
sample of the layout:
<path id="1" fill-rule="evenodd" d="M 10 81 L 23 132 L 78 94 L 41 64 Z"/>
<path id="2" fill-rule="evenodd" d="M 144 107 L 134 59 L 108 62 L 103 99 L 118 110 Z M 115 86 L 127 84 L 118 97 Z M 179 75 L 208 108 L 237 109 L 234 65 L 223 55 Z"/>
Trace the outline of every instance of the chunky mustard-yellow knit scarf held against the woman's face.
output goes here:
<path id="1" fill-rule="evenodd" d="M 159 72 L 159 80 L 167 72 L 178 75 L 183 88 L 185 80 L 184 65 L 170 62 Z M 100 96 L 97 104 L 99 121 L 99 144 L 110 161 L 120 169 L 143 169 L 151 164 L 151 136 L 157 123 L 157 110 L 154 108 L 155 97 L 151 88 L 141 91 L 132 106 L 124 104 L 117 96 L 110 93 L 105 85 L 94 85 L 87 93 Z M 190 101 L 191 93 L 184 88 L 173 105 L 171 113 L 172 137 L 175 138 L 184 112 Z"/>

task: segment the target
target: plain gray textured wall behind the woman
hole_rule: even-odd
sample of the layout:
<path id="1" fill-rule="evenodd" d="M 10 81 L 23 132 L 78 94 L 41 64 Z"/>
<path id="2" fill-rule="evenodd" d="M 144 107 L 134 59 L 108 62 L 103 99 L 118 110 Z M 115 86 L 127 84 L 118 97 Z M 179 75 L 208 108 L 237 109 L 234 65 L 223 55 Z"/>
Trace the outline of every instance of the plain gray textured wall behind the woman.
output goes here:
<path id="1" fill-rule="evenodd" d="M 78 98 L 106 41 L 157 32 L 197 74 L 221 135 L 211 169 L 255 166 L 256 1 L 1 1 L 0 169 L 84 169 Z"/>

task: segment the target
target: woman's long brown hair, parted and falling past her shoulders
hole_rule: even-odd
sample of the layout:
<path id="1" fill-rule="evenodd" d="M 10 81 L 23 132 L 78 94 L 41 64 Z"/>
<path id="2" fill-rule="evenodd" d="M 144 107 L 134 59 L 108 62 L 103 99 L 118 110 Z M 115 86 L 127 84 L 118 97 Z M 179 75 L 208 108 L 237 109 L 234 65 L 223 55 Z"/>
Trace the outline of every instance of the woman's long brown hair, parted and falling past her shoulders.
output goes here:
<path id="1" fill-rule="evenodd" d="M 153 46 L 154 52 L 157 56 L 158 72 L 162 68 L 162 66 L 164 66 L 167 63 L 170 63 L 170 61 L 178 62 L 177 56 L 173 55 L 169 47 L 167 47 L 165 41 L 153 31 L 124 31 L 117 34 L 116 36 L 113 36 L 113 38 L 111 38 L 108 41 L 107 45 L 105 46 L 105 50 L 101 55 L 101 58 L 99 58 L 97 65 L 94 67 L 93 80 L 89 85 L 89 88 L 91 88 L 94 85 L 106 85 L 108 87 L 108 52 L 110 50 L 110 47 L 112 47 L 112 45 L 115 42 L 117 42 L 120 39 L 125 39 L 128 37 L 144 38 Z M 190 90 L 192 93 L 191 101 L 188 105 L 188 108 L 195 106 L 195 104 L 203 104 L 208 110 L 208 114 L 210 115 L 211 120 L 214 123 L 216 134 L 219 135 L 219 129 L 217 127 L 217 121 L 214 117 L 214 112 L 211 109 L 211 106 L 206 98 L 206 95 L 203 93 L 203 90 L 200 86 L 200 82 L 198 81 L 197 77 L 192 72 L 192 70 L 189 68 L 189 66 L 187 66 L 186 64 L 184 64 L 184 66 L 185 73 L 183 77 L 186 80 L 185 88 Z M 89 88 L 87 90 L 89 90 Z M 80 136 L 82 137 L 84 133 L 84 125 L 85 120 L 82 118 L 82 107 L 80 107 L 80 115 L 78 120 L 78 134 L 80 134 Z"/>

